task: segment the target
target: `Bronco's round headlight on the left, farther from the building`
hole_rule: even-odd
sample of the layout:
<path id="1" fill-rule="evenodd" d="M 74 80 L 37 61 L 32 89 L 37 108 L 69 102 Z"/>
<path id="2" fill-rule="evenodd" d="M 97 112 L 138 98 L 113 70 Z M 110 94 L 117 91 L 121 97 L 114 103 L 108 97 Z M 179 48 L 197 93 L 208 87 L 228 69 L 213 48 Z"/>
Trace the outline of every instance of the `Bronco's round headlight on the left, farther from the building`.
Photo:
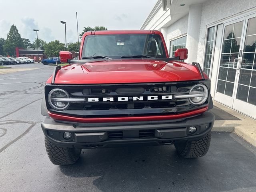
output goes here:
<path id="1" fill-rule="evenodd" d="M 48 94 L 48 102 L 50 106 L 56 110 L 63 111 L 68 108 L 70 102 L 63 102 L 58 98 L 69 98 L 69 94 L 62 89 L 53 89 Z"/>

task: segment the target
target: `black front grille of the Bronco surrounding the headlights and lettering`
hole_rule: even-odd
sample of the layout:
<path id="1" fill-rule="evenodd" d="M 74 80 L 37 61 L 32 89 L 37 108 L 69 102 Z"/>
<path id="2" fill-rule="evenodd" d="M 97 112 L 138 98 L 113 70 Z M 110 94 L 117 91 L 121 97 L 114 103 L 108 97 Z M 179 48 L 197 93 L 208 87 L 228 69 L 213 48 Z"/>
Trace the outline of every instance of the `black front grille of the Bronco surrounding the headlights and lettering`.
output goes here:
<path id="1" fill-rule="evenodd" d="M 175 99 L 174 96 L 188 94 L 190 88 L 198 83 L 207 83 L 206 86 L 210 87 L 209 82 L 204 80 L 184 83 L 46 85 L 45 96 L 47 98 L 50 90 L 61 88 L 72 98 L 85 98 L 84 102 L 70 103 L 68 109 L 64 111 L 54 110 L 46 103 L 48 110 L 54 113 L 82 118 L 178 114 L 206 106 L 208 101 L 201 106 L 194 106 L 188 98 Z M 157 97 L 157 100 L 148 100 L 148 97 Z M 94 98 L 94 102 L 89 102 L 88 98 Z M 104 98 L 112 99 L 104 101 Z M 118 98 L 124 100 L 120 101 Z"/>

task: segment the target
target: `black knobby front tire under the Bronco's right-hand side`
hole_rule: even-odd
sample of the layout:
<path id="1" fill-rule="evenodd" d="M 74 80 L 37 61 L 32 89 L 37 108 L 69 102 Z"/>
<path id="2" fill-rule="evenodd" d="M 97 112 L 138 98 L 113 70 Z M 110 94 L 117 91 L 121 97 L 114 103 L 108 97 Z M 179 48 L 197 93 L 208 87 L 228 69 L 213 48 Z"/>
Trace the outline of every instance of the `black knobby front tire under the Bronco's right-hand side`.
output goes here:
<path id="1" fill-rule="evenodd" d="M 176 142 L 174 146 L 184 158 L 198 158 L 204 156 L 210 147 L 212 133 L 209 132 L 204 138 L 196 141 Z"/>

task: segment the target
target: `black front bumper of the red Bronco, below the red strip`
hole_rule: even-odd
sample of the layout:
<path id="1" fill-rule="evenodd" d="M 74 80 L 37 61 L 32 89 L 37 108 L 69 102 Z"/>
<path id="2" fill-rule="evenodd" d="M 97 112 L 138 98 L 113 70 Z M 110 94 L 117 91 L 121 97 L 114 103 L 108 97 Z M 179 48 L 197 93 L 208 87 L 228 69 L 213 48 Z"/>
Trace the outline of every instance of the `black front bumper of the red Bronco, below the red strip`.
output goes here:
<path id="1" fill-rule="evenodd" d="M 164 144 L 164 143 L 174 143 L 177 140 L 198 140 L 199 138 L 204 137 L 213 127 L 215 120 L 215 116 L 211 112 L 205 112 L 200 116 L 196 116 L 193 118 L 188 118 L 186 120 L 180 122 L 161 122 L 161 121 L 149 121 L 145 124 L 137 124 L 137 122 L 133 122 L 133 124 L 125 125 L 126 122 L 123 122 L 123 125 L 111 125 L 111 126 L 74 126 L 72 124 L 64 124 L 55 122 L 52 118 L 46 117 L 44 122 L 41 124 L 42 130 L 45 136 L 52 141 L 54 144 L 58 146 L 66 146 L 66 147 L 76 147 L 76 148 L 92 148 L 92 146 L 98 146 L 100 148 L 109 147 L 112 145 L 122 145 L 122 144 L 131 144 L 131 143 L 144 143 L 144 144 Z M 198 128 L 199 132 L 196 134 L 189 134 L 184 136 L 184 128 L 189 126 L 199 127 L 201 125 L 209 124 L 207 128 L 202 126 L 202 128 Z M 74 141 L 65 141 L 61 138 L 56 139 L 49 135 L 49 132 L 72 132 L 74 134 L 80 133 L 104 133 L 108 131 L 125 131 L 125 130 L 158 130 L 157 132 L 161 132 L 164 129 L 169 129 L 169 132 L 172 130 L 175 133 L 175 138 L 123 138 L 116 140 L 104 140 L 102 142 L 74 142 Z M 180 129 L 180 133 L 178 134 L 178 130 Z M 87 134 L 88 135 L 88 134 Z M 169 133 L 170 135 L 170 133 Z M 102 137 L 104 139 L 104 137 Z"/>

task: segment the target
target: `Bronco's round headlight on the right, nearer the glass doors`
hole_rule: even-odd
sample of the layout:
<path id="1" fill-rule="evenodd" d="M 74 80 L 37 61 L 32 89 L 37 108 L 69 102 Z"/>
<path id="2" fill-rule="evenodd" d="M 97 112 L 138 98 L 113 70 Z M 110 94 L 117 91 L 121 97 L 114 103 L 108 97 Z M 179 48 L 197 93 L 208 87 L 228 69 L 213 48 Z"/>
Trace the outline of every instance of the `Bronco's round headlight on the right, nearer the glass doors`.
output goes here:
<path id="1" fill-rule="evenodd" d="M 205 85 L 195 85 L 190 89 L 190 95 L 195 95 L 195 97 L 189 98 L 190 102 L 194 105 L 203 104 L 208 98 L 208 89 Z"/>

